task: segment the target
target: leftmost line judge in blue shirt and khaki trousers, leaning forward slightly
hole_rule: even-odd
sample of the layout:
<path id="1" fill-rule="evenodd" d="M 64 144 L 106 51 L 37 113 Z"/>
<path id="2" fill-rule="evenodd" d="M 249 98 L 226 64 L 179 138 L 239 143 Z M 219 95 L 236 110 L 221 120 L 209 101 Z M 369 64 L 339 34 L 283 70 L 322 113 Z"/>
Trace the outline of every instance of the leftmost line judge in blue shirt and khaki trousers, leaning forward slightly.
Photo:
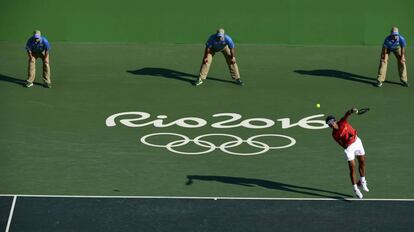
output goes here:
<path id="1" fill-rule="evenodd" d="M 50 80 L 50 65 L 49 65 L 49 51 L 50 44 L 45 37 L 43 37 L 39 30 L 33 32 L 26 43 L 26 51 L 29 56 L 28 79 L 26 87 L 33 86 L 33 81 L 36 76 L 36 59 L 41 58 L 43 62 L 43 81 L 45 87 L 51 88 L 52 82 Z"/>

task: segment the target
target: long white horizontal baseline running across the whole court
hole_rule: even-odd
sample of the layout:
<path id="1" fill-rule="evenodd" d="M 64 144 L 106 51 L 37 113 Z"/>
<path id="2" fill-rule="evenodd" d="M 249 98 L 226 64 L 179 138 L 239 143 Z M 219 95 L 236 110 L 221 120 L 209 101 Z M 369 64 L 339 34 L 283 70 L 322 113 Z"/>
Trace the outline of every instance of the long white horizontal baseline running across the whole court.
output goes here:
<path id="1" fill-rule="evenodd" d="M 272 197 L 189 197 L 189 196 L 83 196 L 83 195 L 25 195 L 0 194 L 0 196 L 39 198 L 107 198 L 107 199 L 189 199 L 189 200 L 269 200 L 269 201 L 361 201 L 357 198 L 272 198 Z M 364 198 L 362 201 L 414 201 L 414 199 Z"/>

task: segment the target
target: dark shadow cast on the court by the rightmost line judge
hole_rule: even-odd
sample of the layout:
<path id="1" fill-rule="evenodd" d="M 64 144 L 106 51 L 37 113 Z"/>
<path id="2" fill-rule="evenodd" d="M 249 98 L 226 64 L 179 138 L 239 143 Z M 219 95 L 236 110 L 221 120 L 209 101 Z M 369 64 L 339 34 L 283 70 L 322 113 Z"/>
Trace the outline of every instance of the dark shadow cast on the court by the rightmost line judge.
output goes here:
<path id="1" fill-rule="evenodd" d="M 319 76 L 319 77 L 334 77 L 339 79 L 344 79 L 348 81 L 356 81 L 360 83 L 374 85 L 377 83 L 376 78 L 362 76 L 354 73 L 343 72 L 333 69 L 315 69 L 315 70 L 295 70 L 295 73 L 299 73 L 304 76 Z M 389 84 L 401 85 L 398 82 L 394 81 L 385 81 Z"/>

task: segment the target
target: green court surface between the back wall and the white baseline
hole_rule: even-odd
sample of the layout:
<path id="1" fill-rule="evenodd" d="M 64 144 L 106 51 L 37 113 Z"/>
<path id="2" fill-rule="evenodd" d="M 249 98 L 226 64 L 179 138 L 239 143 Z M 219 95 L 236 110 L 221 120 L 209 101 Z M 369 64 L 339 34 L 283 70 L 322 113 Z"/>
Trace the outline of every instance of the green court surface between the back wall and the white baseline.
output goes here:
<path id="1" fill-rule="evenodd" d="M 217 54 L 209 78 L 195 87 L 202 44 L 53 45 L 53 87 L 41 86 L 38 65 L 38 84 L 27 89 L 23 45 L 0 43 L 0 194 L 353 198 L 343 151 L 321 122 L 356 106 L 371 108 L 350 118 L 367 153 L 371 191 L 364 197 L 414 199 L 414 92 L 400 85 L 394 57 L 387 82 L 373 86 L 378 47 L 241 44 L 244 86 Z M 123 115 L 108 126 L 108 117 L 123 112 L 150 117 Z M 317 129 L 297 125 L 311 116 L 317 121 L 307 127 Z M 164 147 L 141 141 L 153 133 L 179 135 L 146 140 Z M 198 145 L 179 141 L 202 135 Z M 290 143 L 281 136 L 295 144 L 266 150 Z M 182 153 L 211 151 L 178 154 L 168 143 Z M 412 204 L 405 207 L 412 213 Z"/>

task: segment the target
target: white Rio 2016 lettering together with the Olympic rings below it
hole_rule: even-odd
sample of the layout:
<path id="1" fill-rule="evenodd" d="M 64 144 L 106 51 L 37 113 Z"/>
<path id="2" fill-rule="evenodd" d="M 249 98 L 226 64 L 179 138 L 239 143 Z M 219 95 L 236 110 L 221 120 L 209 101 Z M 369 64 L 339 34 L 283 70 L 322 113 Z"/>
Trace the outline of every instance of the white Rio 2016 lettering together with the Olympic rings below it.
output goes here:
<path id="1" fill-rule="evenodd" d="M 289 118 L 280 118 L 277 119 L 278 122 L 281 124 L 282 129 L 289 129 L 292 127 L 301 127 L 304 129 L 310 129 L 310 130 L 319 130 L 319 129 L 325 129 L 328 126 L 326 125 L 325 121 L 323 119 L 318 119 L 323 117 L 323 114 L 318 115 L 312 115 L 305 118 L 300 119 L 296 123 L 292 123 Z M 166 115 L 158 115 L 156 119 L 151 119 L 151 114 L 146 112 L 122 112 L 117 113 L 109 116 L 105 124 L 107 127 L 114 127 L 117 125 L 116 119 L 119 119 L 119 123 L 131 128 L 137 128 L 137 127 L 146 127 L 146 126 L 153 126 L 155 128 L 166 128 L 171 126 L 179 126 L 182 128 L 202 128 L 205 126 L 210 126 L 212 128 L 217 129 L 229 129 L 229 128 L 237 128 L 237 127 L 243 127 L 248 129 L 265 129 L 273 127 L 276 122 L 272 119 L 268 118 L 249 118 L 249 119 L 243 119 L 243 117 L 240 114 L 237 113 L 218 113 L 212 115 L 213 118 L 221 118 L 217 122 L 212 123 L 211 125 L 208 125 L 207 120 L 199 117 L 184 117 L 180 118 L 171 122 L 166 122 L 167 116 Z M 157 136 L 172 136 L 177 138 L 177 140 L 174 140 L 172 142 L 166 143 L 166 144 L 154 144 L 148 142 L 149 138 L 157 137 Z M 226 141 L 221 144 L 216 144 L 212 141 L 209 141 L 207 138 L 210 137 L 223 137 L 223 138 L 231 138 L 233 140 Z M 270 146 L 267 143 L 260 141 L 260 138 L 273 138 L 273 139 L 279 139 L 286 141 L 286 144 L 281 146 Z M 214 150 L 221 150 L 222 152 L 226 154 L 231 155 L 243 155 L 243 156 L 251 156 L 251 155 L 259 155 L 263 154 L 269 150 L 274 149 L 283 149 L 288 148 L 296 144 L 296 140 L 290 136 L 287 135 L 281 135 L 281 134 L 259 134 L 251 136 L 250 138 L 247 138 L 244 140 L 243 138 L 240 138 L 239 136 L 232 135 L 232 134 L 224 134 L 224 133 L 210 133 L 210 134 L 202 134 L 194 139 L 190 139 L 186 135 L 177 134 L 177 133 L 167 133 L 167 132 L 160 132 L 160 133 L 152 133 L 147 134 L 141 137 L 140 142 L 152 147 L 160 147 L 160 148 L 166 148 L 170 152 L 176 153 L 176 154 L 184 154 L 184 155 L 201 155 L 210 153 Z M 188 152 L 188 151 L 180 151 L 178 147 L 185 146 L 189 143 L 194 143 L 199 147 L 202 147 L 204 150 L 202 151 L 194 151 L 194 152 Z M 240 153 L 232 151 L 231 149 L 237 146 L 240 146 L 241 144 L 246 143 L 251 147 L 260 149 L 257 152 L 247 152 L 247 153 Z"/>

